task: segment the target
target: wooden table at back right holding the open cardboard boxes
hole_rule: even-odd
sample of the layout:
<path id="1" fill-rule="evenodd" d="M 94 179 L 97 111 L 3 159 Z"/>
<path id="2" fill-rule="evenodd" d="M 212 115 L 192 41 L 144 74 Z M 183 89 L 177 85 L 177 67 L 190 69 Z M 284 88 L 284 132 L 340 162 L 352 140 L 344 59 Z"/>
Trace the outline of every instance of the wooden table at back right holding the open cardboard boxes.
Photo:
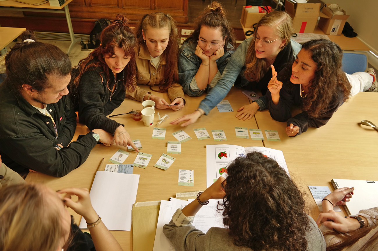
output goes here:
<path id="1" fill-rule="evenodd" d="M 245 28 L 243 24 L 240 22 L 240 25 L 242 26 L 244 35 L 246 31 L 252 30 L 252 28 Z M 324 32 L 316 26 L 314 32 L 315 34 L 322 34 L 324 35 Z M 252 35 L 245 36 L 245 38 L 250 38 Z M 344 34 L 341 35 L 327 35 L 329 39 L 338 44 L 342 50 L 348 50 L 348 51 L 369 51 L 369 47 L 366 46 L 361 40 L 359 40 L 358 37 L 345 37 Z"/>

